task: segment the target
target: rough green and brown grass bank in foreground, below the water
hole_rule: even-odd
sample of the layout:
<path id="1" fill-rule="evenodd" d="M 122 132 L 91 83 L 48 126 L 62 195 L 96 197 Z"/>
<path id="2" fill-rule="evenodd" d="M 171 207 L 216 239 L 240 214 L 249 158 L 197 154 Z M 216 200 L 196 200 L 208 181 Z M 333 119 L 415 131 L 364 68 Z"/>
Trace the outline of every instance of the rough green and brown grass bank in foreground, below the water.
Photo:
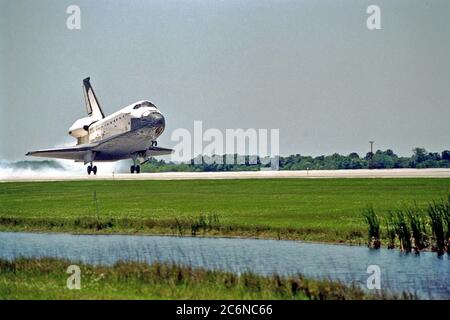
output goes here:
<path id="1" fill-rule="evenodd" d="M 77 265 L 81 288 L 66 286 L 67 267 L 57 259 L 0 259 L 3 299 L 387 299 L 329 280 L 235 275 L 170 264 Z M 405 295 L 403 298 L 412 298 Z"/>

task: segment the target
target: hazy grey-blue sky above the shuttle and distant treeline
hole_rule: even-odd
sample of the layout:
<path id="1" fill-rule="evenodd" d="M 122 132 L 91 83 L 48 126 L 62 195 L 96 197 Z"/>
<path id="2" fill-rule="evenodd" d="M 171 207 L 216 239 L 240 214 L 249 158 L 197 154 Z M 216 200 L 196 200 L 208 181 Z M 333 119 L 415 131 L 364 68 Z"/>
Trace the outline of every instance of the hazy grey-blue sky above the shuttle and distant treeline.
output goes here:
<path id="1" fill-rule="evenodd" d="M 281 155 L 450 149 L 449 17 L 448 0 L 0 0 L 0 159 L 74 144 L 87 76 L 105 113 L 155 103 L 164 147 L 201 120 L 279 129 Z"/>

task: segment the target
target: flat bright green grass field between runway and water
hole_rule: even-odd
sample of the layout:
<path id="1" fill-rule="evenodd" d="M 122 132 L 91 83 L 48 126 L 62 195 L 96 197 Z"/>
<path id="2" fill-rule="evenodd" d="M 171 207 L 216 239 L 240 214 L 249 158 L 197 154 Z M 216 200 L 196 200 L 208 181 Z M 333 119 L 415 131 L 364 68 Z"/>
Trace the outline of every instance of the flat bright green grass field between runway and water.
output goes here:
<path id="1" fill-rule="evenodd" d="M 197 224 L 196 234 L 359 243 L 368 205 L 383 215 L 448 194 L 448 178 L 11 182 L 0 183 L 0 229 L 191 234 Z"/>

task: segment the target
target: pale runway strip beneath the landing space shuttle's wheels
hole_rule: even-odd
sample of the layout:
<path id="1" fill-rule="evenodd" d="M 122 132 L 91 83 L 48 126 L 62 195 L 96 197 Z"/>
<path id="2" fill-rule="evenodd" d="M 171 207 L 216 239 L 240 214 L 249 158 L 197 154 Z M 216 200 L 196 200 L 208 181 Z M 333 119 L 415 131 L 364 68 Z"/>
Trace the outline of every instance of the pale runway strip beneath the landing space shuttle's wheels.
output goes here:
<path id="1" fill-rule="evenodd" d="M 196 179 L 272 179 L 272 178 L 450 178 L 450 169 L 359 169 L 300 171 L 233 171 L 233 172 L 161 172 L 103 173 L 94 175 L 70 172 L 39 174 L 6 174 L 0 182 L 70 181 L 70 180 L 196 180 Z"/>

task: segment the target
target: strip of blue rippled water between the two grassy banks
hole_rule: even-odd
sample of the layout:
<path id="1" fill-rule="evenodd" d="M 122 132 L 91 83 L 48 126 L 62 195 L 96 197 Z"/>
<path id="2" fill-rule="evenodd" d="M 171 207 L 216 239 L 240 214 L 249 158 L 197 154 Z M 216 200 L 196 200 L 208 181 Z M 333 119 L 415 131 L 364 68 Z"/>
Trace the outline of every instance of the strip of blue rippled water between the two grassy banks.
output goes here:
<path id="1" fill-rule="evenodd" d="M 242 238 L 72 235 L 0 232 L 0 258 L 58 257 L 92 264 L 174 262 L 261 275 L 341 280 L 366 288 L 369 265 L 381 270 L 381 288 L 450 299 L 450 258 L 360 246 Z"/>

